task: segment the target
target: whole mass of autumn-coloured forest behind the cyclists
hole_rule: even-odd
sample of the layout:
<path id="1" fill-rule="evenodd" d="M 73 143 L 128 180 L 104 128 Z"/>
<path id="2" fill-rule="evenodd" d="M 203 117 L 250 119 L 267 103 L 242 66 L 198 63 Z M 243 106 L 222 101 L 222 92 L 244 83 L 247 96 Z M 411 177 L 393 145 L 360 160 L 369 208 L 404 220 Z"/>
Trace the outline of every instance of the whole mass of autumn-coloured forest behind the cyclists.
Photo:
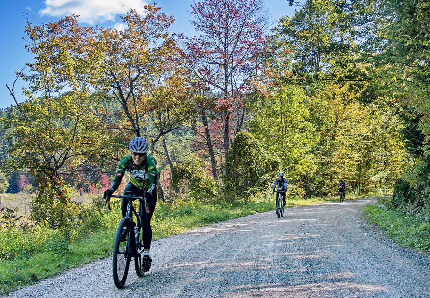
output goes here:
<path id="1" fill-rule="evenodd" d="M 28 23 L 25 100 L 0 111 L 0 192 L 33 185 L 31 225 L 73 239 L 91 212 L 70 198 L 100 195 L 142 136 L 169 204 L 246 203 L 282 171 L 289 198 L 345 179 L 349 195 L 394 189 L 390 207 L 428 214 L 428 3 L 288 2 L 274 26 L 263 0 L 194 2 L 198 36 L 170 32 L 155 3 L 124 30 Z"/>

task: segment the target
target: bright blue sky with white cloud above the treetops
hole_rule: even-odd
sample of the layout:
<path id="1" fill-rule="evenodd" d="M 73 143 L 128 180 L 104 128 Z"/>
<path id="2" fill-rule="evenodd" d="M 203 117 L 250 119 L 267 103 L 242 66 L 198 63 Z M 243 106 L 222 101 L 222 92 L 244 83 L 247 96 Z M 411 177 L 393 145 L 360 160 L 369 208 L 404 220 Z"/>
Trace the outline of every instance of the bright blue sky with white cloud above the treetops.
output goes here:
<path id="1" fill-rule="evenodd" d="M 160 0 L 157 4 L 163 12 L 174 15 L 175 23 L 170 32 L 184 33 L 194 36 L 194 27 L 188 21 L 190 19 L 191 0 Z M 283 15 L 292 15 L 294 8 L 289 7 L 287 0 L 264 0 L 266 7 L 273 14 L 275 21 Z M 32 24 L 57 21 L 64 15 L 75 13 L 80 15 L 80 23 L 83 25 L 98 25 L 100 27 L 120 26 L 120 15 L 126 10 L 139 9 L 144 5 L 143 0 L 18 0 L 4 1 L 2 3 L 1 39 L 0 39 L 0 108 L 14 104 L 12 96 L 6 88 L 6 84 L 12 87 L 15 71 L 25 67 L 25 63 L 32 61 L 33 57 L 25 50 L 25 17 Z M 23 16 L 24 15 L 24 16 Z M 15 84 L 15 96 L 19 101 L 25 99 L 21 88 L 24 82 Z"/>

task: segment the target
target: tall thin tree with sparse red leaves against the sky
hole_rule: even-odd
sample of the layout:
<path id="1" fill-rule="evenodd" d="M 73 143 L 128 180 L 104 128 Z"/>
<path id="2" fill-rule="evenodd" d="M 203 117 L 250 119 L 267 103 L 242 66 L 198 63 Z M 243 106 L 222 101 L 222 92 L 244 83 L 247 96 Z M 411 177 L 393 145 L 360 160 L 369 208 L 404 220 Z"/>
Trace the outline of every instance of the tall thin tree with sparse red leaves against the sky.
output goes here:
<path id="1" fill-rule="evenodd" d="M 243 97 L 249 94 L 249 83 L 258 76 L 262 64 L 263 33 L 269 15 L 263 0 L 193 1 L 190 14 L 192 24 L 202 35 L 186 40 L 184 61 L 194 82 L 223 95 L 216 107 L 218 121 L 223 125 L 226 159 L 233 113 L 237 113 L 234 133 L 243 124 Z"/>

